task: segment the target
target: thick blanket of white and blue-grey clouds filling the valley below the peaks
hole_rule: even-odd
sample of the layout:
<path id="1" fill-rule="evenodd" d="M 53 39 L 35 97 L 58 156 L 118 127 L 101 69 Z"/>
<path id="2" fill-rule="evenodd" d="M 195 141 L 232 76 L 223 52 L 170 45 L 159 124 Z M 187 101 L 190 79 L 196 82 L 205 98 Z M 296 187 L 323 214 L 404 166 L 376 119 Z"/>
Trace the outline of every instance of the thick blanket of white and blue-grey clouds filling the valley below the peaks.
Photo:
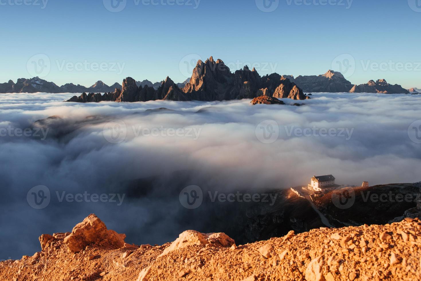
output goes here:
<path id="1" fill-rule="evenodd" d="M 421 95 L 320 93 L 300 107 L 63 102 L 71 96 L 0 94 L 0 259 L 39 251 L 37 236 L 71 231 L 90 213 L 136 244 L 208 230 L 186 217 L 208 211 L 181 205 L 188 185 L 228 193 L 325 174 L 346 185 L 421 180 L 421 144 L 410 137 Z M 36 209 L 30 190 L 40 185 L 51 198 Z M 75 200 L 86 193 L 108 197 Z"/>

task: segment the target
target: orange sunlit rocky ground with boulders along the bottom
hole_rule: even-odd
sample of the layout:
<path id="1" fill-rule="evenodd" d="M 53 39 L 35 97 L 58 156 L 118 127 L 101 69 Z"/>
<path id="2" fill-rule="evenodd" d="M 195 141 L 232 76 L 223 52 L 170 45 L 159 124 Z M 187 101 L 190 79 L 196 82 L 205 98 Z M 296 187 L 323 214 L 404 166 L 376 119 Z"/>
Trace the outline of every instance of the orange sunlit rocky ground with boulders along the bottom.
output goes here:
<path id="1" fill-rule="evenodd" d="M 1 280 L 419 280 L 421 221 L 290 231 L 246 245 L 187 230 L 162 246 L 131 245 L 94 214 L 41 252 L 0 263 Z"/>

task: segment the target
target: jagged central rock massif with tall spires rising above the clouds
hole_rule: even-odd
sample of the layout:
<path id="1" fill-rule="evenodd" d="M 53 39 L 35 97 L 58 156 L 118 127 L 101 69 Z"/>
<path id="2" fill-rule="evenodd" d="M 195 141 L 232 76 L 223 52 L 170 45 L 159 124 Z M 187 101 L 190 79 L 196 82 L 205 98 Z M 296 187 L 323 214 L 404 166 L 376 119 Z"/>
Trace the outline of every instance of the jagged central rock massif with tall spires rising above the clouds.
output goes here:
<path id="1" fill-rule="evenodd" d="M 149 82 L 149 81 L 148 81 Z M 242 70 L 231 73 L 229 67 L 220 59 L 210 57 L 205 62 L 197 62 L 192 78 L 185 81 L 184 88 L 179 88 L 167 77 L 157 89 L 148 86 L 150 83 L 136 82 L 133 78 L 123 80 L 121 95 L 116 99 L 107 94 L 106 97 L 96 96 L 69 99 L 69 102 L 91 102 L 113 100 L 116 102 L 145 102 L 149 100 L 174 101 L 222 101 L 232 99 L 253 99 L 255 97 L 275 96 L 276 98 L 309 99 L 295 83 L 281 78 L 277 73 L 261 77 L 253 68 L 245 66 Z M 140 86 L 138 86 L 140 85 Z M 181 83 L 184 85 L 184 83 Z"/>

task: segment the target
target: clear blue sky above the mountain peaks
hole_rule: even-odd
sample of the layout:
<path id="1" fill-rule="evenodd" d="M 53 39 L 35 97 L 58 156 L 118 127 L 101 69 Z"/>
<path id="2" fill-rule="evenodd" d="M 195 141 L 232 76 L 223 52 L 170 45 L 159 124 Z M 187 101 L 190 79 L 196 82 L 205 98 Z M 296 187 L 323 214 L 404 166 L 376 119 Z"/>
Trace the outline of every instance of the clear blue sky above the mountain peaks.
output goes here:
<path id="1" fill-rule="evenodd" d="M 123 0 L 119 12 L 107 10 L 111 0 L 23 1 L 0 0 L 0 82 L 35 76 L 40 58 L 49 70 L 38 76 L 59 86 L 128 76 L 181 82 L 192 61 L 213 56 L 232 71 L 333 68 L 356 84 L 385 78 L 421 88 L 421 0 L 274 0 L 272 12 L 261 11 L 263 0 Z"/>

